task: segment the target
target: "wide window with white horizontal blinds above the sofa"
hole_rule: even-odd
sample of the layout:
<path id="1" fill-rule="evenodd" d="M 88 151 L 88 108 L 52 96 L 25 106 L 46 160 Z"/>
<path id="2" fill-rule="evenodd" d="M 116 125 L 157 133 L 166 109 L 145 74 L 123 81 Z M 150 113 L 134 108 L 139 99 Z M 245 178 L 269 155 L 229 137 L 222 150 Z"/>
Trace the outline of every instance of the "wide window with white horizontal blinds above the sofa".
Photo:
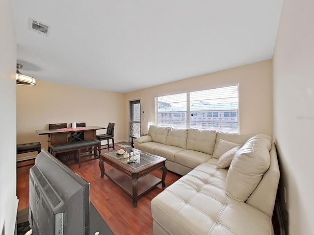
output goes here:
<path id="1" fill-rule="evenodd" d="M 238 133 L 238 85 L 159 96 L 158 126 Z"/>

